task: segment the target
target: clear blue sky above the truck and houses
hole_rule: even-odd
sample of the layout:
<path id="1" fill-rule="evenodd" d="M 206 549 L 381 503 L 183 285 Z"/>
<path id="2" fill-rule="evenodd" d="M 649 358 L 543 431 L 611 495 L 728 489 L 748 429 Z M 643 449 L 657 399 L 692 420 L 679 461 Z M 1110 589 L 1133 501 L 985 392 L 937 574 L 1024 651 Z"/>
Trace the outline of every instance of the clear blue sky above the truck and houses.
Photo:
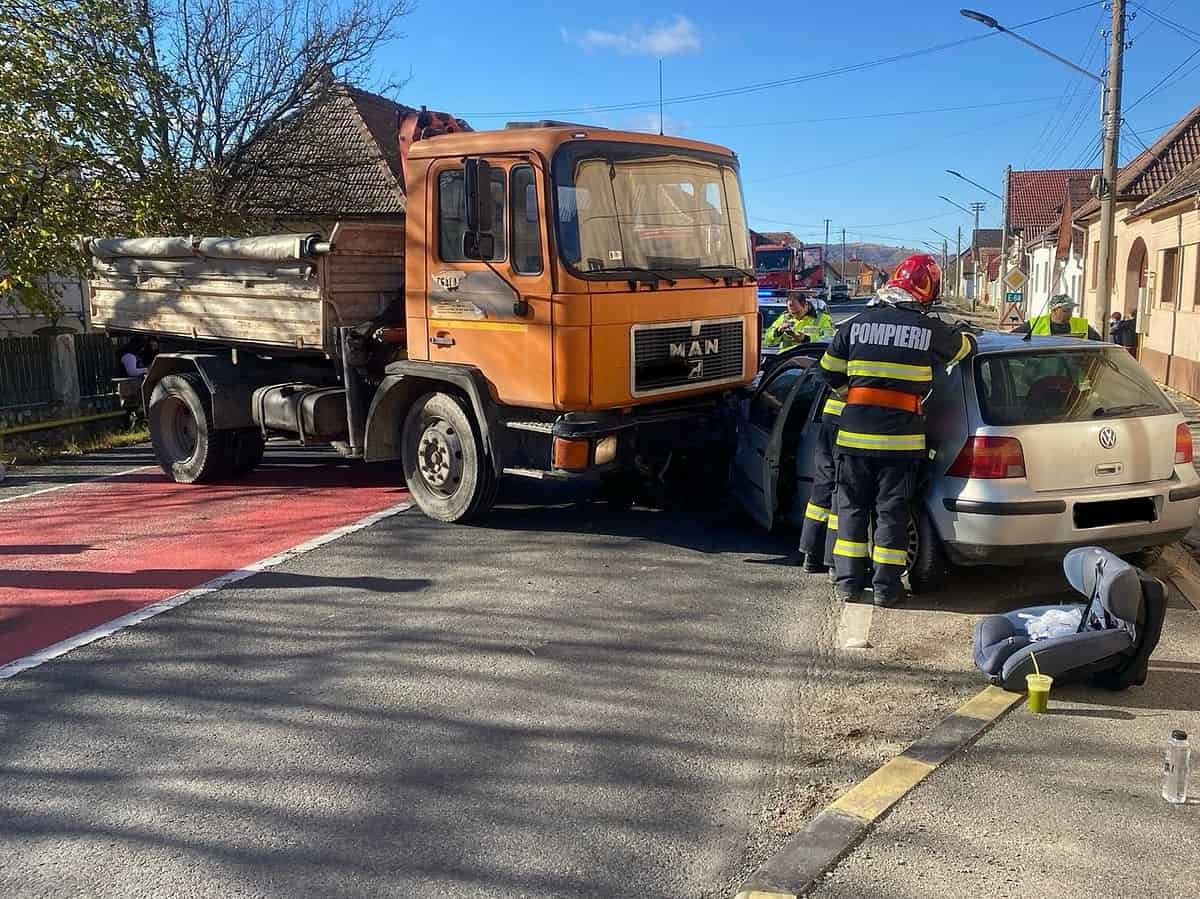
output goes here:
<path id="1" fill-rule="evenodd" d="M 1085 0 L 962 0 L 1006 26 Z M 959 16 L 959 0 L 731 4 L 509 0 L 482 14 L 422 0 L 407 37 L 380 54 L 380 74 L 410 80 L 398 98 L 452 112 L 476 128 L 562 118 L 658 130 L 664 60 L 668 133 L 724 144 L 742 160 L 751 227 L 820 242 L 905 242 L 954 235 L 968 217 L 938 199 L 1000 202 L 956 181 L 958 169 L 1002 192 L 1003 168 L 1099 166 L 1099 100 L 1091 83 Z M 1139 8 L 1141 7 L 1141 8 Z M 1200 103 L 1200 4 L 1141 0 L 1126 53 L 1127 122 L 1146 143 Z M 1172 28 L 1151 13 L 1183 26 Z M 1106 62 L 1100 4 L 1022 34 L 1092 71 Z M 514 37 L 518 43 L 514 43 Z M 688 95 L 823 73 L 962 38 L 968 43 L 864 71 L 692 102 Z M 1193 53 L 1198 55 L 1136 103 Z M 643 104 L 605 110 L 604 107 Z M 936 109 L 941 112 L 919 113 Z M 905 114 L 912 113 L 912 114 Z M 869 118 L 864 118 L 869 116 Z M 1128 131 L 1121 161 L 1141 150 Z"/>

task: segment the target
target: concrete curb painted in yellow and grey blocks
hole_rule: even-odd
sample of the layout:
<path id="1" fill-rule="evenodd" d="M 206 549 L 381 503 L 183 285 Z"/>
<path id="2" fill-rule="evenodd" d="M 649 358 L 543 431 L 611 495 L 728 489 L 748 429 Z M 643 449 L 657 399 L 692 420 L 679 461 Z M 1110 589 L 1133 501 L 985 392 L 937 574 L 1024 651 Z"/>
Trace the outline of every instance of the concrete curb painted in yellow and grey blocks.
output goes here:
<path id="1" fill-rule="evenodd" d="M 845 858 L 888 809 L 960 749 L 973 743 L 1021 694 L 986 687 L 900 755 L 838 797 L 763 862 L 736 899 L 796 899 Z"/>

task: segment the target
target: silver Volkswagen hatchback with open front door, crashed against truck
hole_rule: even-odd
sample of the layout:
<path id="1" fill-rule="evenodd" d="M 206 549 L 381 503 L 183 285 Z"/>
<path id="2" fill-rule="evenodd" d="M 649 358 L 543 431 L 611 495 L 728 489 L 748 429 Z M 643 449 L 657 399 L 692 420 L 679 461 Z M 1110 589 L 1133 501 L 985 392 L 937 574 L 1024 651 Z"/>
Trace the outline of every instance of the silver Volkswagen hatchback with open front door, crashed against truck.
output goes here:
<path id="1" fill-rule="evenodd" d="M 776 359 L 743 400 L 732 489 L 760 525 L 799 525 L 812 484 L 826 344 Z M 1138 565 L 1200 513 L 1183 416 L 1123 348 L 985 332 L 925 403 L 932 459 L 910 528 L 908 580 L 950 564 L 1019 565 L 1099 545 Z"/>

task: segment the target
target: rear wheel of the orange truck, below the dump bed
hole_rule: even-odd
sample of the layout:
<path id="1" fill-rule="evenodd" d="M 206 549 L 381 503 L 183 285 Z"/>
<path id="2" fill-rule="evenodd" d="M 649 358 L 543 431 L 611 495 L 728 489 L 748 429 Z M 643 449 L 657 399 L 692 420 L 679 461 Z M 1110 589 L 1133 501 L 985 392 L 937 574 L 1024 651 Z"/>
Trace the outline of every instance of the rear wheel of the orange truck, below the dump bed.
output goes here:
<path id="1" fill-rule="evenodd" d="M 233 471 L 233 440 L 214 430 L 212 400 L 198 374 L 163 376 L 146 418 L 158 465 L 176 484 L 203 484 Z"/>

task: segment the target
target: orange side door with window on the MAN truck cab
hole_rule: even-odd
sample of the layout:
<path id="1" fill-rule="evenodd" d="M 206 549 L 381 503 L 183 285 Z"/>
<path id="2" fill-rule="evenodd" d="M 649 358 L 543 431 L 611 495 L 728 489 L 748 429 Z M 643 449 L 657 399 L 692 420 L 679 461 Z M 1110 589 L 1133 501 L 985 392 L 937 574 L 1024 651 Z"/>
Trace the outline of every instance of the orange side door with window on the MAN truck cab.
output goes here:
<path id="1" fill-rule="evenodd" d="M 541 166 L 490 158 L 494 203 L 490 259 L 468 259 L 461 158 L 430 168 L 426 244 L 428 358 L 473 365 L 500 402 L 553 404 L 551 280 Z"/>

